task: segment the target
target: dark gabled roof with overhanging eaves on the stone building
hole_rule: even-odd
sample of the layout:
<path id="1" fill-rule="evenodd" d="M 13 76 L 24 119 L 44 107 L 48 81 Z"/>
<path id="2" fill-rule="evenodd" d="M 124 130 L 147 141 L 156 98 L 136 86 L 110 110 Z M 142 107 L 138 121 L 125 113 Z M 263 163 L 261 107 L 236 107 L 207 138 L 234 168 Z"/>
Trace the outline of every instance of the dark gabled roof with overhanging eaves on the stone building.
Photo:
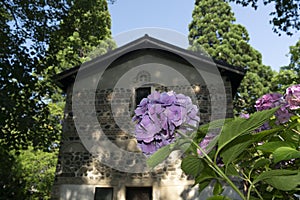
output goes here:
<path id="1" fill-rule="evenodd" d="M 236 66 L 226 64 L 224 62 L 213 60 L 205 56 L 204 54 L 202 55 L 199 54 L 198 52 L 193 52 L 190 50 L 180 48 L 170 43 L 166 43 L 164 41 L 150 37 L 146 34 L 143 37 L 136 39 L 124 46 L 116 48 L 104 55 L 98 56 L 97 58 L 84 63 L 84 65 L 75 66 L 71 69 L 68 69 L 58 74 L 55 79 L 61 88 L 66 89 L 69 86 L 69 84 L 74 82 L 76 74 L 80 67 L 81 67 L 80 70 L 82 69 L 85 70 L 85 68 L 87 70 L 92 70 L 89 69 L 93 67 L 92 63 L 107 62 L 109 60 L 113 61 L 127 53 L 136 50 L 143 50 L 143 49 L 163 50 L 178 55 L 184 58 L 185 60 L 187 60 L 188 62 L 189 60 L 192 60 L 193 62 L 216 65 L 221 73 L 225 73 L 230 77 L 233 94 L 235 94 L 237 87 L 240 85 L 240 82 L 243 79 L 246 72 L 246 70 L 242 69 L 241 67 L 236 67 Z M 99 65 L 97 67 L 99 67 Z"/>

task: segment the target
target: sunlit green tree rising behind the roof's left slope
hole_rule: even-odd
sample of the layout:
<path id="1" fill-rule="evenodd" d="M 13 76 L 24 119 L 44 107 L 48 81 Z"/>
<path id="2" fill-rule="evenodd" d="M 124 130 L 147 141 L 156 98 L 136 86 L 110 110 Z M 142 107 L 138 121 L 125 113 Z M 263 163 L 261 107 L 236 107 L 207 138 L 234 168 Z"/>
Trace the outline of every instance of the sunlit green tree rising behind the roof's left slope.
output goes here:
<path id="1" fill-rule="evenodd" d="M 58 73 L 115 48 L 110 28 L 106 0 L 75 0 L 51 37 L 48 70 Z"/>

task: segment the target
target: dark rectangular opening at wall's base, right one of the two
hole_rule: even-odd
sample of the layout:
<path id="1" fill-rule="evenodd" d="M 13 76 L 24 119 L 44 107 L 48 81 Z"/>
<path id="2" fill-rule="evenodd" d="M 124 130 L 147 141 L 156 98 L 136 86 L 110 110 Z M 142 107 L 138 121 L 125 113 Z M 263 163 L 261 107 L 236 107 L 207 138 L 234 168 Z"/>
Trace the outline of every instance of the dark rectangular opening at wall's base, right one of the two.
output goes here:
<path id="1" fill-rule="evenodd" d="M 127 187 L 126 200 L 152 200 L 152 187 Z"/>

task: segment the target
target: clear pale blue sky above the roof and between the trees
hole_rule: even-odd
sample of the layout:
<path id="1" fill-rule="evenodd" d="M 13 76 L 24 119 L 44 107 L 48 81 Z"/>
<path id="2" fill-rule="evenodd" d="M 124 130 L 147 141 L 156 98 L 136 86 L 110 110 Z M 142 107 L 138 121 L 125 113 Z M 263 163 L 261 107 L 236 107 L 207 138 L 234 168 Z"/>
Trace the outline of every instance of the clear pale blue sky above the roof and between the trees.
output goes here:
<path id="1" fill-rule="evenodd" d="M 231 4 L 237 23 L 246 27 L 250 44 L 263 55 L 263 63 L 278 70 L 287 65 L 289 46 L 300 39 L 299 32 L 292 37 L 273 33 L 269 24 L 272 6 L 260 6 L 258 10 Z M 188 24 L 192 20 L 194 0 L 117 0 L 109 5 L 112 18 L 112 34 L 158 27 L 177 31 L 187 37 Z M 150 34 L 151 35 L 151 34 Z M 167 35 L 166 35 L 167 37 Z"/>

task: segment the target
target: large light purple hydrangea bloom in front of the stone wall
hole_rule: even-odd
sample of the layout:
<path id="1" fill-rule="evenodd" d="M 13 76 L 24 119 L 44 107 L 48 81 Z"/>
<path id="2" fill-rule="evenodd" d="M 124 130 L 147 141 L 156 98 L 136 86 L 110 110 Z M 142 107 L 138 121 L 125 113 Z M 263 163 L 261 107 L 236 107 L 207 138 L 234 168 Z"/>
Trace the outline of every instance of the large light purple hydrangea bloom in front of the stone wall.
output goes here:
<path id="1" fill-rule="evenodd" d="M 183 94 L 154 92 L 142 99 L 135 110 L 135 134 L 144 154 L 150 155 L 175 140 L 176 130 L 187 133 L 200 121 L 198 108 Z"/>

